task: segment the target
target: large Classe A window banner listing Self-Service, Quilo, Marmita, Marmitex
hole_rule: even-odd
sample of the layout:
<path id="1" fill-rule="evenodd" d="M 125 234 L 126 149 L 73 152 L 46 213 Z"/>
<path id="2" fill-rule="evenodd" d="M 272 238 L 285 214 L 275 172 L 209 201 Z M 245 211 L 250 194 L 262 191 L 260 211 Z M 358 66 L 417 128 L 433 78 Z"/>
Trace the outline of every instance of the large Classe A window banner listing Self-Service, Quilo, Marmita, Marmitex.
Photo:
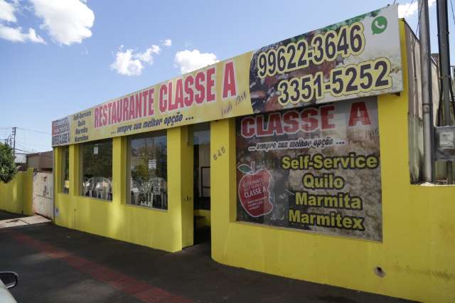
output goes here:
<path id="1" fill-rule="evenodd" d="M 376 97 L 237 118 L 237 220 L 382 240 Z"/>

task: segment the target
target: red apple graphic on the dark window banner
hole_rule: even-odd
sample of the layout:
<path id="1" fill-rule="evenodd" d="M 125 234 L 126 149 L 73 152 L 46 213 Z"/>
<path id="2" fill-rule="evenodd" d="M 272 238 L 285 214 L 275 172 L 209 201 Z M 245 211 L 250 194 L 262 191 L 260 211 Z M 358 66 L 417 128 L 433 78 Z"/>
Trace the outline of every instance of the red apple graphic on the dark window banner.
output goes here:
<path id="1" fill-rule="evenodd" d="M 244 176 L 239 181 L 239 199 L 243 209 L 252 217 L 267 215 L 273 209 L 270 186 L 272 174 L 265 169 L 255 171 L 247 164 L 240 164 L 238 169 Z"/>

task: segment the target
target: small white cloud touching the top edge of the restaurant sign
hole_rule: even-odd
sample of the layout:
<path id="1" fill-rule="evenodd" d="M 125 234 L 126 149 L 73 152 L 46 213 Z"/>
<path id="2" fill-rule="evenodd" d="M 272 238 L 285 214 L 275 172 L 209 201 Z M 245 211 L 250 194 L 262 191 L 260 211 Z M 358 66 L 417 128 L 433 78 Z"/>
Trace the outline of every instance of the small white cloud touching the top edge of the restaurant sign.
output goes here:
<path id="1" fill-rule="evenodd" d="M 181 73 L 190 73 L 193 70 L 204 68 L 207 65 L 217 63 L 219 60 L 214 53 L 200 53 L 199 50 L 182 50 L 176 53 L 175 65 Z"/>

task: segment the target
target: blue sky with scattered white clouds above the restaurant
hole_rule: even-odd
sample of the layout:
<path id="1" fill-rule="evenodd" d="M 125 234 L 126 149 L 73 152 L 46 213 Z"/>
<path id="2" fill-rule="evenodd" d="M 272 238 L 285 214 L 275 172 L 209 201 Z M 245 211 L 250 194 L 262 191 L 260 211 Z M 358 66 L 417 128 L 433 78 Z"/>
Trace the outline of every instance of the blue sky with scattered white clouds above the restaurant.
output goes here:
<path id="1" fill-rule="evenodd" d="M 48 150 L 54 119 L 392 2 L 0 0 L 0 139 L 21 127 L 20 149 Z"/>

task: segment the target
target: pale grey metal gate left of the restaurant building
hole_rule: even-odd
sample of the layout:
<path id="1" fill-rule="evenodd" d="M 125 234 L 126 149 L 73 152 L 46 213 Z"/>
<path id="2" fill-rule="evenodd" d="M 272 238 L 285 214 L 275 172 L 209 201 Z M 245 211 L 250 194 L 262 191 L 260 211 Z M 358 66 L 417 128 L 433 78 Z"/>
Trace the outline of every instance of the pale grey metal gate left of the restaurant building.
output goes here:
<path id="1" fill-rule="evenodd" d="M 35 173 L 33 175 L 33 211 L 53 218 L 52 173 Z"/>

